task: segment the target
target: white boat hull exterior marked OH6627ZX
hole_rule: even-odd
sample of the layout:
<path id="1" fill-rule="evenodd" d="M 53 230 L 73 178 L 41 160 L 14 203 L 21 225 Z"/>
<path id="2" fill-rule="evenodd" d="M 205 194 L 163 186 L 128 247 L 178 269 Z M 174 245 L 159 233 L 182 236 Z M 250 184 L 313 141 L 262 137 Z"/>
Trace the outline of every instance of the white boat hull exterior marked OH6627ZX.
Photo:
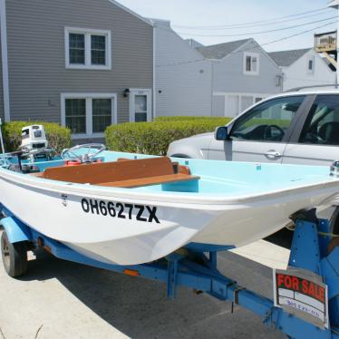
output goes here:
<path id="1" fill-rule="evenodd" d="M 5 208 L 36 231 L 87 257 L 134 265 L 190 242 L 240 247 L 266 237 L 299 209 L 335 203 L 339 180 L 225 199 L 73 185 L 0 169 L 0 189 Z"/>

